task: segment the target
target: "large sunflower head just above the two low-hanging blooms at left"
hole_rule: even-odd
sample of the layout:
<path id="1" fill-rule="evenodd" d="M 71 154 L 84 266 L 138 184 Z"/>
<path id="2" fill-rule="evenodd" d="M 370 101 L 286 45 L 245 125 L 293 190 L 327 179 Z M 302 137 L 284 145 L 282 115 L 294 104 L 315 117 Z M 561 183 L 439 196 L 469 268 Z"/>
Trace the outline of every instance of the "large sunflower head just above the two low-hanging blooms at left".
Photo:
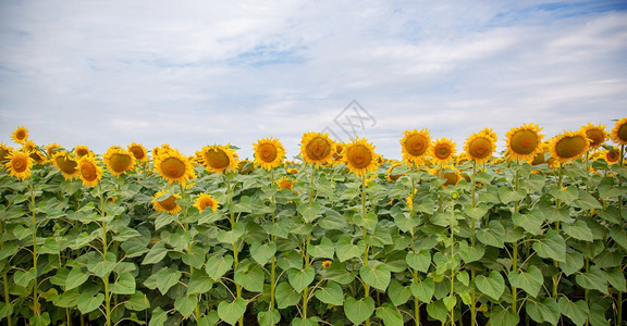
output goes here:
<path id="1" fill-rule="evenodd" d="M 196 177 L 187 156 L 175 149 L 160 149 L 159 154 L 153 160 L 155 171 L 169 183 L 186 183 L 190 178 Z"/>

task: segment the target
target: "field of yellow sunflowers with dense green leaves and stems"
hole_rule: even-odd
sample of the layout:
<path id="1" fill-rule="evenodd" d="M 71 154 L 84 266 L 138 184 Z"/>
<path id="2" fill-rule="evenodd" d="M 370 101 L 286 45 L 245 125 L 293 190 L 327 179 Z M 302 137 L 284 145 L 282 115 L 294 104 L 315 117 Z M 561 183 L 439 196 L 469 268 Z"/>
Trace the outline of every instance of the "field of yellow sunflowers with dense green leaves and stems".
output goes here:
<path id="1" fill-rule="evenodd" d="M 4 325 L 625 325 L 627 117 L 402 161 L 306 133 L 241 160 L 0 143 Z"/>

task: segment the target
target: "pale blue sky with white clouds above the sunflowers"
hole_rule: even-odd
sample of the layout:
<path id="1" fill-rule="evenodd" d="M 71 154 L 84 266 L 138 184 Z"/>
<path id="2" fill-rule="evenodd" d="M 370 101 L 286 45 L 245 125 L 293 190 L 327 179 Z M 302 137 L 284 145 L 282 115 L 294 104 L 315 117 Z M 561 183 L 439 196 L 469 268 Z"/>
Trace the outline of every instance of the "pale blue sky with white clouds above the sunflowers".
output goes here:
<path id="1" fill-rule="evenodd" d="M 0 141 L 194 153 L 627 116 L 627 1 L 0 0 Z"/>

